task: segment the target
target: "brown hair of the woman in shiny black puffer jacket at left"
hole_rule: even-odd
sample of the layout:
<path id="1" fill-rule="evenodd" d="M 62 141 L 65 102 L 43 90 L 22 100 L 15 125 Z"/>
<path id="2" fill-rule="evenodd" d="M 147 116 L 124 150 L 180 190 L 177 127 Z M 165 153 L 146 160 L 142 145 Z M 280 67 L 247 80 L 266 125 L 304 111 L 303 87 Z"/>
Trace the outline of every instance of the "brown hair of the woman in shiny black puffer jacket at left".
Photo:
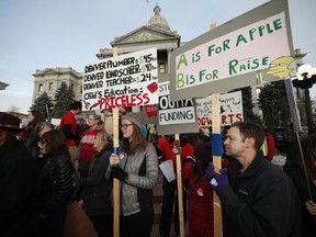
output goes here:
<path id="1" fill-rule="evenodd" d="M 42 142 L 46 143 L 47 155 L 49 157 L 57 157 L 59 155 L 66 155 L 70 159 L 67 139 L 60 129 L 53 129 L 53 131 L 46 132 L 42 136 Z"/>

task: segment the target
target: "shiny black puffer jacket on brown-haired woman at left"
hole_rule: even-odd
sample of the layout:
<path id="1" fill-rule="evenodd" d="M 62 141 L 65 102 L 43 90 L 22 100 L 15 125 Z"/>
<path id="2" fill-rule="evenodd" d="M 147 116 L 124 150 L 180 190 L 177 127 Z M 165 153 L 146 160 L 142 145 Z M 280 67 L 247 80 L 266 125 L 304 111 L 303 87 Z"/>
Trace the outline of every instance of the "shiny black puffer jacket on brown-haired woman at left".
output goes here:
<path id="1" fill-rule="evenodd" d="M 38 180 L 38 212 L 48 215 L 66 206 L 72 196 L 71 160 L 66 155 L 48 157 Z"/>

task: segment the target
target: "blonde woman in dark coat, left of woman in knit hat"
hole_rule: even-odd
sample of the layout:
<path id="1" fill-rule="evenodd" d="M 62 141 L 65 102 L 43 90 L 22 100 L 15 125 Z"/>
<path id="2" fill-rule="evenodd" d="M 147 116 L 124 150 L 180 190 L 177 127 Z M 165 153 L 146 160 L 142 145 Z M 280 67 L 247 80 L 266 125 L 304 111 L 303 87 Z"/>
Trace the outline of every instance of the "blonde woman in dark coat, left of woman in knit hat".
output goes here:
<path id="1" fill-rule="evenodd" d="M 90 162 L 89 176 L 82 184 L 82 193 L 79 201 L 84 208 L 99 237 L 113 236 L 113 212 L 110 200 L 110 184 L 105 178 L 105 171 L 112 154 L 112 136 L 105 132 L 97 135 L 93 148 L 97 155 Z"/>

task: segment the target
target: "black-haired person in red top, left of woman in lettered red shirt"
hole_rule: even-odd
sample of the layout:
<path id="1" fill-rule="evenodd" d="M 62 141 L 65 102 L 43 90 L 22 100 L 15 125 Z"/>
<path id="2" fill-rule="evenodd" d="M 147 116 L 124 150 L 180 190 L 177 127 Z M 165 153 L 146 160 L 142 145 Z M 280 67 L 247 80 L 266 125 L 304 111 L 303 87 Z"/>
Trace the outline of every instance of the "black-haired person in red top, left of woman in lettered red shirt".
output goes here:
<path id="1" fill-rule="evenodd" d="M 74 102 L 70 105 L 70 111 L 64 114 L 59 124 L 59 128 L 63 131 L 67 138 L 68 150 L 72 162 L 75 162 L 77 154 L 76 140 L 80 139 L 80 136 L 76 134 L 77 121 L 75 115 L 80 114 L 81 109 L 82 103 L 80 101 Z"/>

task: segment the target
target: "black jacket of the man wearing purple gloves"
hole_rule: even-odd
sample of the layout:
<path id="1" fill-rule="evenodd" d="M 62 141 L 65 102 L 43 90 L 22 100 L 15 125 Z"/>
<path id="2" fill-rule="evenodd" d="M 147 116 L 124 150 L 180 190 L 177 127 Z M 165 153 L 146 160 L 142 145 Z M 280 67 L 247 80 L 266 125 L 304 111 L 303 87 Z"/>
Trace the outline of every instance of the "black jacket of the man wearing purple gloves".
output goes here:
<path id="1" fill-rule="evenodd" d="M 302 236 L 298 195 L 280 167 L 259 151 L 244 173 L 237 160 L 227 169 L 229 185 L 216 190 L 224 211 L 224 236 Z"/>

